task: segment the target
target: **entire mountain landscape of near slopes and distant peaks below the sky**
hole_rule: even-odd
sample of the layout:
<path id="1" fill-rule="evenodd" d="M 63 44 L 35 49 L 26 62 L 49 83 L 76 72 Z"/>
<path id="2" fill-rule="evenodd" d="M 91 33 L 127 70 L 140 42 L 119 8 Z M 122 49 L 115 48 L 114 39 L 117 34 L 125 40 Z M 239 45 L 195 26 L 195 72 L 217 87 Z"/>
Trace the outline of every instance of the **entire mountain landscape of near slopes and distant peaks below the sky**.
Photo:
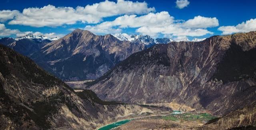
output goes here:
<path id="1" fill-rule="evenodd" d="M 0 129 L 90 130 L 170 109 L 219 117 L 200 130 L 255 128 L 256 31 L 124 36 L 76 29 L 55 41 L 0 39 Z M 74 90 L 54 76 L 92 80 Z"/>

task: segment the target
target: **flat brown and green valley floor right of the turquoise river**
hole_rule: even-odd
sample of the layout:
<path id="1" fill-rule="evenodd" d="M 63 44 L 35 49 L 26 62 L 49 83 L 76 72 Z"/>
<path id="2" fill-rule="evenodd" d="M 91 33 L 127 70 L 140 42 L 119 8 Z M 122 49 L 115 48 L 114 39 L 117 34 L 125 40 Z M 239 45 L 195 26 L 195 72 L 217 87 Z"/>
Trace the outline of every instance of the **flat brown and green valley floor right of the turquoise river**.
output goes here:
<path id="1" fill-rule="evenodd" d="M 214 118 L 217 116 L 208 113 L 169 114 L 131 120 L 113 130 L 196 130 Z"/>

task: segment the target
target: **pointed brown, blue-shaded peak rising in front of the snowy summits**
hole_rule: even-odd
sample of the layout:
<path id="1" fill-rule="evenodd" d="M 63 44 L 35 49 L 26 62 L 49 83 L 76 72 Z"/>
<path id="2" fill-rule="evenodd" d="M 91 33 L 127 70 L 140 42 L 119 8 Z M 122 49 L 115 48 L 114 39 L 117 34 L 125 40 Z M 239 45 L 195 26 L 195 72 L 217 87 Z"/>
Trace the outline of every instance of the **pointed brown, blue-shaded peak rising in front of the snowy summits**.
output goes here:
<path id="1" fill-rule="evenodd" d="M 112 35 L 101 36 L 76 29 L 48 43 L 30 58 L 62 80 L 90 80 L 145 48 L 143 43 L 120 41 Z"/>

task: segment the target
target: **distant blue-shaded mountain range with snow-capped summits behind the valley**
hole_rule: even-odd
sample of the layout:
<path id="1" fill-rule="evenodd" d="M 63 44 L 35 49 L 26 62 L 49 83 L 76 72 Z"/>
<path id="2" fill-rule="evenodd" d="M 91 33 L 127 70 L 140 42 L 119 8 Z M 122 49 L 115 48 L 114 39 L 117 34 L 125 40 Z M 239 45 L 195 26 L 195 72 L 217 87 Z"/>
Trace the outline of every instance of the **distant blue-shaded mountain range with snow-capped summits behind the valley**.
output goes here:
<path id="1" fill-rule="evenodd" d="M 203 39 L 193 41 L 200 40 Z M 54 39 L 33 33 L 0 39 L 0 44 L 32 58 L 64 81 L 94 80 L 134 52 L 170 42 L 174 40 L 126 33 L 101 36 L 81 29 Z"/>

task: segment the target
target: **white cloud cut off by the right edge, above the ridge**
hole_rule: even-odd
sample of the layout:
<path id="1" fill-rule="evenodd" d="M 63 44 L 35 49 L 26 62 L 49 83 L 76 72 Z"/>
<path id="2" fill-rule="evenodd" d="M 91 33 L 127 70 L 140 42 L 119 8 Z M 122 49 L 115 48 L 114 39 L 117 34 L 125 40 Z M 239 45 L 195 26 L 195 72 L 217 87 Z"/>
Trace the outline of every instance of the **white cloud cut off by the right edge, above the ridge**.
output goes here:
<path id="1" fill-rule="evenodd" d="M 247 20 L 246 22 L 242 22 L 236 26 L 221 26 L 218 28 L 218 30 L 222 31 L 223 35 L 256 31 L 256 19 Z"/>

